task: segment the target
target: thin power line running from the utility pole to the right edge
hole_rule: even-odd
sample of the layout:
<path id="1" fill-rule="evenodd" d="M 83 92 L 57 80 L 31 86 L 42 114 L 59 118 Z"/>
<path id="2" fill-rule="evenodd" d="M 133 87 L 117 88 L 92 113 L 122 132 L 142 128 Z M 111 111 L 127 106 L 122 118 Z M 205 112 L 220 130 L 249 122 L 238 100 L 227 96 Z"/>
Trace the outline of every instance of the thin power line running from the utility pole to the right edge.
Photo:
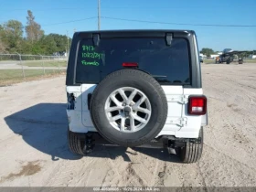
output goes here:
<path id="1" fill-rule="evenodd" d="M 169 23 L 161 21 L 148 21 L 148 20 L 138 20 L 138 19 L 128 19 L 128 18 L 117 18 L 110 16 L 101 16 L 101 18 L 121 20 L 121 21 L 132 21 L 140 23 L 155 23 L 155 24 L 166 24 L 166 25 L 177 25 L 177 26 L 204 26 L 204 27 L 256 27 L 256 25 L 221 25 L 221 24 L 188 24 L 188 23 Z"/>

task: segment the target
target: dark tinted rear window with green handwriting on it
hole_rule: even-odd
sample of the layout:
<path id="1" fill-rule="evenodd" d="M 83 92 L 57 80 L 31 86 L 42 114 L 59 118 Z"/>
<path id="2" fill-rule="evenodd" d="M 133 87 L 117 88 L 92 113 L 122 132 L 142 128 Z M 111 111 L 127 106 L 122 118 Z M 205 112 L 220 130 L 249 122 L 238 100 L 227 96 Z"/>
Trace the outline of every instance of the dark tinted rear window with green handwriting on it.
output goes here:
<path id="1" fill-rule="evenodd" d="M 123 63 L 137 63 L 138 69 L 151 74 L 160 84 L 190 84 L 187 40 L 174 38 L 167 46 L 165 38 L 101 39 L 94 47 L 91 39 L 80 41 L 76 82 L 99 83 Z"/>

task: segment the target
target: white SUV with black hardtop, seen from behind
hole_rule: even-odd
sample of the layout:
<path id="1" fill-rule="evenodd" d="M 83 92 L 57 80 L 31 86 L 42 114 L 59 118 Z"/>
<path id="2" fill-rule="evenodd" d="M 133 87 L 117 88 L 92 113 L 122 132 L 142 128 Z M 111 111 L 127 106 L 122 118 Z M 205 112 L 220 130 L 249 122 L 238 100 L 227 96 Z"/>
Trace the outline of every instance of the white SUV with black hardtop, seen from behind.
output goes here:
<path id="1" fill-rule="evenodd" d="M 115 144 L 200 159 L 208 114 L 194 31 L 76 32 L 66 89 L 73 153 Z"/>

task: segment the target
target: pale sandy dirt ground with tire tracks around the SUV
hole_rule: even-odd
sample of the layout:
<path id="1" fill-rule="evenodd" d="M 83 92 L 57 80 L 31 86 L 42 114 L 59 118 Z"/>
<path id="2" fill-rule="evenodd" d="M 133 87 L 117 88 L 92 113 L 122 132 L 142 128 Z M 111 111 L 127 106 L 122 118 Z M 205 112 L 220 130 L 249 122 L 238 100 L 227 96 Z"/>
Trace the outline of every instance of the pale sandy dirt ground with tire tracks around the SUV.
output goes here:
<path id="1" fill-rule="evenodd" d="M 204 152 L 178 163 L 159 149 L 97 146 L 69 153 L 65 77 L 0 88 L 0 186 L 255 187 L 256 64 L 202 64 Z"/>

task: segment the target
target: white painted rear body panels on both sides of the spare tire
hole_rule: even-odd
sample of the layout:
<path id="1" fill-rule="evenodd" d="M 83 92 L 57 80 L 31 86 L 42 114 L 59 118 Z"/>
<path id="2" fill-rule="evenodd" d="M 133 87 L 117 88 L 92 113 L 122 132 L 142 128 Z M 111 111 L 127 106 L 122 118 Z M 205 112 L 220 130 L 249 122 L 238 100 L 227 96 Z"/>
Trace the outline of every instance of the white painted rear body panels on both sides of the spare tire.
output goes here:
<path id="1" fill-rule="evenodd" d="M 67 92 L 73 93 L 74 110 L 67 110 L 69 130 L 75 133 L 96 132 L 88 109 L 88 94 L 96 85 L 82 84 L 68 86 Z M 183 138 L 197 138 L 199 129 L 207 124 L 207 115 L 187 115 L 187 100 L 189 95 L 202 95 L 202 89 L 184 89 L 182 86 L 162 86 L 168 101 L 168 114 L 163 130 L 156 136 L 174 135 Z"/>

